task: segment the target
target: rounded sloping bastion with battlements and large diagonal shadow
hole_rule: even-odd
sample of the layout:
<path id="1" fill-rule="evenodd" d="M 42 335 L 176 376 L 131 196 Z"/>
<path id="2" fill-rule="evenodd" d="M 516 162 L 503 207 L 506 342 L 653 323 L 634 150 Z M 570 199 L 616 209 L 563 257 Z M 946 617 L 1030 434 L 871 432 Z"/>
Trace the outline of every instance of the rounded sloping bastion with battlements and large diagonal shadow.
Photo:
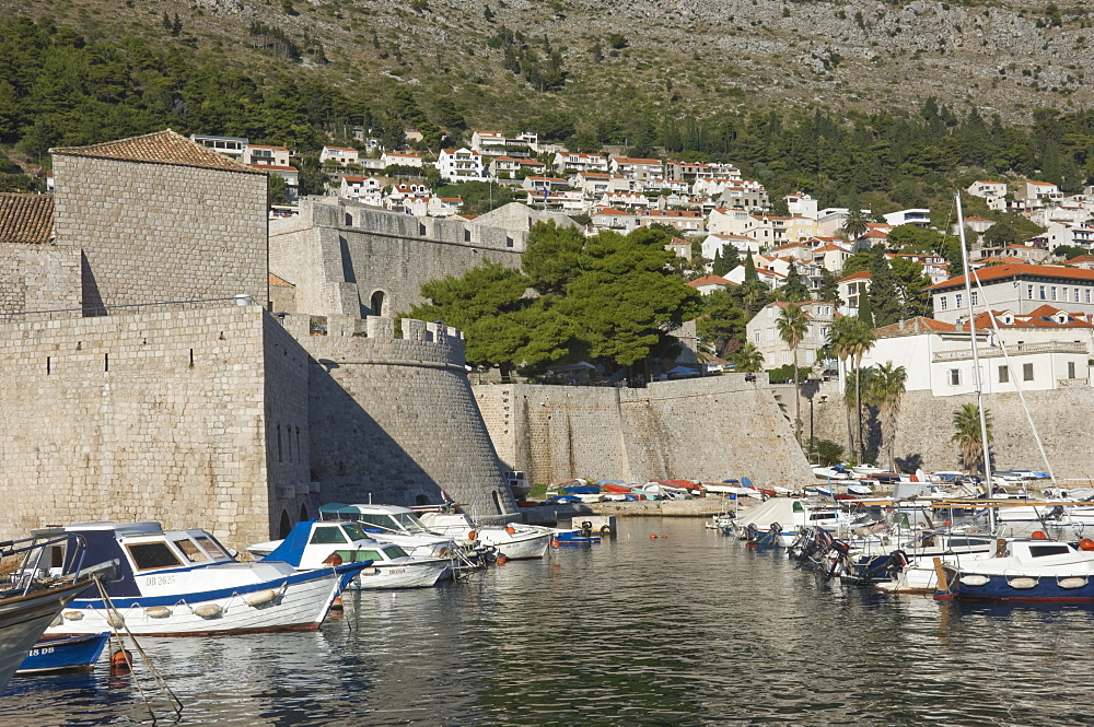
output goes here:
<path id="1" fill-rule="evenodd" d="M 312 479 L 324 502 L 438 503 L 443 490 L 478 516 L 516 511 L 475 406 L 464 341 L 446 326 L 309 316 L 284 325 L 311 355 Z M 309 331 L 309 332 L 305 332 Z"/>

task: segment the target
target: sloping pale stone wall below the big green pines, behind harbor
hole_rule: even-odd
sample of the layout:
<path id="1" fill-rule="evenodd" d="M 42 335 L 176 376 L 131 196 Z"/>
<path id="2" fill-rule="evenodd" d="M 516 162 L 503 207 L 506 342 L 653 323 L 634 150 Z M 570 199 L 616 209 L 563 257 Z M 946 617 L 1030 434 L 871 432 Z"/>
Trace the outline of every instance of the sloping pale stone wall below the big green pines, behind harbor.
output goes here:
<path id="1" fill-rule="evenodd" d="M 474 392 L 499 457 L 533 482 L 812 480 L 783 404 L 742 375 L 644 389 L 501 384 Z"/>

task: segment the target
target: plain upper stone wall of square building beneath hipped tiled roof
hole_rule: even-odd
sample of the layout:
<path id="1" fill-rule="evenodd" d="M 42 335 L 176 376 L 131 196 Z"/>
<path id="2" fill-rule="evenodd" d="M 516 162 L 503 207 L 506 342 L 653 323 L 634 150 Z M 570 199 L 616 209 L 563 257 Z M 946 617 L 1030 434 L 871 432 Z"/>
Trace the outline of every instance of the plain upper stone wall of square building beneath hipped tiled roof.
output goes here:
<path id="1" fill-rule="evenodd" d="M 265 175 L 54 155 L 57 246 L 85 256 L 84 305 L 266 301 Z"/>

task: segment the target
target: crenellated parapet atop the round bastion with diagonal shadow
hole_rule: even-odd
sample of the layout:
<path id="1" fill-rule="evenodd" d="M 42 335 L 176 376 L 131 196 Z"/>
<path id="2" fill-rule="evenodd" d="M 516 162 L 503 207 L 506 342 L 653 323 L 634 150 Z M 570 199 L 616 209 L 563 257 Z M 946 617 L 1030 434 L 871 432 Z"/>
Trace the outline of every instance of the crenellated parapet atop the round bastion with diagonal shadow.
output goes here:
<path id="1" fill-rule="evenodd" d="M 278 314 L 286 330 L 313 356 L 346 363 L 444 367 L 464 371 L 464 335 L 441 321 L 387 316 Z"/>

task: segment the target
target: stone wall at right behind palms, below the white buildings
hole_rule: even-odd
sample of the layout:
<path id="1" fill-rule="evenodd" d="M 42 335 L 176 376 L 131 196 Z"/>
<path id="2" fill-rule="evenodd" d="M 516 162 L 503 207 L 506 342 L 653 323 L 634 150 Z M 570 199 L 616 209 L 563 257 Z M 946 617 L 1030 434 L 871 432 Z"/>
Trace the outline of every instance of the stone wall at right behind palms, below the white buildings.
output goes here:
<path id="1" fill-rule="evenodd" d="M 824 403 L 821 403 L 821 396 L 826 397 Z M 1094 455 L 1086 444 L 1094 412 L 1094 388 L 1074 386 L 1049 391 L 1027 391 L 1025 398 L 1057 477 L 1083 483 L 1094 481 Z M 814 401 L 817 436 L 833 439 L 846 447 L 845 407 L 836 384 L 826 384 Z M 951 441 L 954 433 L 953 415 L 962 404 L 975 402 L 975 395 L 934 397 L 929 391 L 905 394 L 894 443 L 897 465 L 906 471 L 918 467 L 928 472 L 964 469 L 957 445 Z M 1037 449 L 1019 395 L 992 394 L 985 397 L 985 402 L 992 422 L 993 467 L 1044 470 L 1044 459 Z M 807 400 L 803 404 L 807 433 Z M 863 426 L 868 431 L 868 437 L 871 437 L 868 442 L 876 444 L 880 441 L 880 427 L 874 410 L 864 411 Z"/>

